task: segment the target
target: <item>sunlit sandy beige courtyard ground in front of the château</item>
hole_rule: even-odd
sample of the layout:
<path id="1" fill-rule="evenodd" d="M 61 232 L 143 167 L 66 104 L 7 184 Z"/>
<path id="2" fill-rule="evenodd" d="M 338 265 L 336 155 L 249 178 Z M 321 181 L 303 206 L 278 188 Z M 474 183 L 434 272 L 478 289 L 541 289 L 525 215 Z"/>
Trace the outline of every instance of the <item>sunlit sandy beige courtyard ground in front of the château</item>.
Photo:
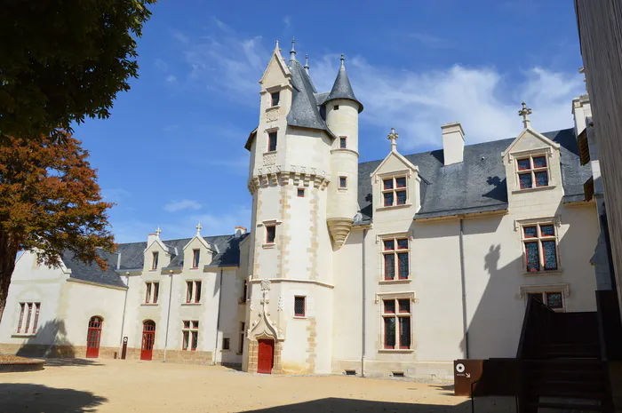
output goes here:
<path id="1" fill-rule="evenodd" d="M 56 360 L 43 371 L 0 373 L 0 412 L 461 413 L 448 385 L 359 377 L 273 377 L 149 361 Z M 514 399 L 475 400 L 514 412 Z"/>

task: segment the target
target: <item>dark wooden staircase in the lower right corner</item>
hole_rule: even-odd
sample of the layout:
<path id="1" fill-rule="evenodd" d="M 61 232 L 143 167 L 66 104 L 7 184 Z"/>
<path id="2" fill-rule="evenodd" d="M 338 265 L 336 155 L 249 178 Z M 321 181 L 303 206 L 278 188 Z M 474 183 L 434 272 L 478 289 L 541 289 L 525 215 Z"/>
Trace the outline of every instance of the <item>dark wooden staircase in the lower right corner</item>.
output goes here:
<path id="1" fill-rule="evenodd" d="M 554 313 L 530 298 L 518 352 L 521 413 L 612 412 L 594 313 Z"/>

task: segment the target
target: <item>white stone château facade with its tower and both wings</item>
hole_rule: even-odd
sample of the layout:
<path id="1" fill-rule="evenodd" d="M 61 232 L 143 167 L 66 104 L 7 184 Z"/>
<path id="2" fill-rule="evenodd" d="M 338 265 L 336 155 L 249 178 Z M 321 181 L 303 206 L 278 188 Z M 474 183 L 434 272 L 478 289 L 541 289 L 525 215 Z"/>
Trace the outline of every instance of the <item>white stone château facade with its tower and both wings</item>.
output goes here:
<path id="1" fill-rule="evenodd" d="M 339 76 L 346 76 L 342 70 Z M 126 337 L 127 356 L 140 357 L 143 323 L 152 321 L 153 360 L 229 363 L 251 372 L 267 372 L 269 365 L 268 371 L 283 374 L 354 371 L 438 380 L 453 377 L 455 359 L 514 357 L 531 293 L 561 299 L 557 311 L 595 311 L 590 260 L 600 233 L 597 208 L 593 199 L 569 193 L 568 182 L 578 181 L 573 174 L 580 166 L 564 147 L 568 142 L 560 145 L 532 129 L 525 112 L 518 137 L 485 155 L 478 146 L 465 146 L 461 125 L 451 123 L 439 132 L 444 158 L 443 151 L 401 155 L 394 131 L 385 159 L 363 168 L 363 106 L 343 89 L 343 78 L 323 94 L 309 89 L 304 73 L 296 60 L 287 64 L 277 46 L 260 81 L 259 126 L 246 144 L 251 230 L 220 243 L 235 243 L 235 262 L 225 262 L 227 254 L 210 237 L 169 242 L 155 234 L 140 247 L 139 268 L 123 265 L 124 249 L 131 247 L 122 245 L 116 274 L 124 285 L 104 286 L 74 279 L 64 267 L 36 266 L 26 254 L 13 276 L 0 351 L 70 345 L 83 356 L 88 322 L 100 316 L 100 347 L 109 356 L 120 356 Z M 585 114 L 575 115 L 578 128 L 585 128 Z M 530 169 L 521 169 L 525 159 Z M 497 175 L 466 174 L 459 187 L 440 190 L 447 196 L 463 192 L 474 206 L 429 210 L 433 186 L 463 173 L 467 163 L 480 162 L 497 165 Z M 547 182 L 538 187 L 542 171 Z M 530 188 L 521 188 L 525 173 L 533 174 Z M 489 181 L 492 195 L 474 192 L 482 180 Z M 482 197 L 501 201 L 480 205 Z M 528 266 L 530 242 L 538 244 L 538 270 Z M 545 257 L 551 245 L 554 258 Z M 158 264 L 152 268 L 155 252 Z M 545 271 L 550 260 L 555 268 Z M 159 282 L 155 304 L 146 302 L 148 282 Z M 187 302 L 187 282 L 201 282 L 197 303 Z M 58 331 L 16 332 L 20 303 L 28 302 L 41 303 L 40 326 L 62 322 L 62 339 Z M 195 351 L 183 350 L 184 331 L 193 330 L 184 322 L 199 323 Z M 391 325 L 393 341 L 387 339 Z"/>

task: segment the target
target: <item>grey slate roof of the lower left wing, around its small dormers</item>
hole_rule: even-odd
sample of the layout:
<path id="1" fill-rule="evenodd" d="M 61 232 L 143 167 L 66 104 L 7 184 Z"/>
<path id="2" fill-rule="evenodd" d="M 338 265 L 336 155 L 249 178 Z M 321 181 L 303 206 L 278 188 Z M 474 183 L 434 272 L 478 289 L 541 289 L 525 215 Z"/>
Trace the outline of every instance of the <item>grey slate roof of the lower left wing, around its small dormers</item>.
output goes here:
<path id="1" fill-rule="evenodd" d="M 248 236 L 248 234 L 243 234 L 238 238 L 235 238 L 234 234 L 204 236 L 203 239 L 215 246 L 218 250 L 210 266 L 238 266 L 240 263 L 240 242 L 242 242 L 246 236 Z M 165 269 L 180 268 L 183 266 L 183 248 L 190 240 L 192 240 L 192 238 L 163 240 L 164 245 L 168 247 L 171 253 L 175 254 L 171 259 L 170 265 Z M 76 260 L 74 258 L 75 255 L 70 251 L 66 251 L 63 254 L 62 260 L 65 266 L 71 269 L 71 278 L 114 287 L 125 287 L 125 283 L 118 273 L 124 273 L 124 271 L 136 270 L 139 268 L 142 269 L 144 266 L 144 251 L 146 248 L 147 242 L 128 242 L 118 244 L 116 252 L 112 254 L 103 250 L 98 250 L 100 257 L 106 259 L 110 265 L 108 270 L 103 272 L 97 264 L 87 265 Z"/>

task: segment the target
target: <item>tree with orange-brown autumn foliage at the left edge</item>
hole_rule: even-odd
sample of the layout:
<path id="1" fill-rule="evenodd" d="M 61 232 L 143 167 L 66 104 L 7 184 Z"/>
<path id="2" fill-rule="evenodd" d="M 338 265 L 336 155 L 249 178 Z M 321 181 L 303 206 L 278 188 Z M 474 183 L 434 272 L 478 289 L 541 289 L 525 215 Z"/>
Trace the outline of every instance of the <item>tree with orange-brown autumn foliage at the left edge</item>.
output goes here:
<path id="1" fill-rule="evenodd" d="M 0 320 L 20 251 L 38 262 L 60 265 L 64 251 L 76 259 L 108 264 L 97 254 L 114 251 L 97 173 L 81 142 L 62 139 L 0 139 Z"/>

